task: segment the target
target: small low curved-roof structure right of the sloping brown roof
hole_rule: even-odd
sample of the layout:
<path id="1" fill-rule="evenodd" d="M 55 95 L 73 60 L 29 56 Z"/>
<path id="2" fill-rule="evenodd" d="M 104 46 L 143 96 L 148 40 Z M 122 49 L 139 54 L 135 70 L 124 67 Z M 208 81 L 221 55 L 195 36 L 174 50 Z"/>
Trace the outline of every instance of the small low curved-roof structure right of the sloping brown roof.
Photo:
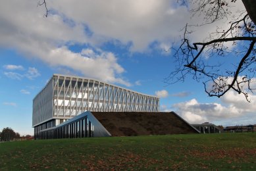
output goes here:
<path id="1" fill-rule="evenodd" d="M 209 122 L 191 125 L 195 127 L 201 134 L 220 133 L 222 131 L 222 129 L 220 129 L 218 126 Z"/>

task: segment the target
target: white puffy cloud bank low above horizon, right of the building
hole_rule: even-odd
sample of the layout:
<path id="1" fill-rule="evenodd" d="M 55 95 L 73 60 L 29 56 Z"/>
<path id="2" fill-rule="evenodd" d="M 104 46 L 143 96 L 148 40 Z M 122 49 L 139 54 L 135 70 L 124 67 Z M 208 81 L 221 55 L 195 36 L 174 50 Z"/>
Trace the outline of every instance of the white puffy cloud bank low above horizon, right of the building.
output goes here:
<path id="1" fill-rule="evenodd" d="M 236 105 L 238 104 L 235 103 L 236 100 L 233 100 L 234 103 L 230 103 L 234 97 L 230 96 L 226 98 L 230 99 L 230 101 L 226 101 L 227 106 L 219 103 L 199 103 L 196 99 L 192 99 L 190 101 L 176 103 L 172 107 L 190 124 L 201 124 L 203 122 L 213 122 L 214 124 L 224 123 L 228 125 L 240 122 L 241 124 L 248 121 L 251 113 L 255 112 L 255 104 L 247 103 L 246 105 L 242 103 L 245 105 L 243 107 L 242 105 Z M 250 124 L 253 123 L 250 122 Z"/>

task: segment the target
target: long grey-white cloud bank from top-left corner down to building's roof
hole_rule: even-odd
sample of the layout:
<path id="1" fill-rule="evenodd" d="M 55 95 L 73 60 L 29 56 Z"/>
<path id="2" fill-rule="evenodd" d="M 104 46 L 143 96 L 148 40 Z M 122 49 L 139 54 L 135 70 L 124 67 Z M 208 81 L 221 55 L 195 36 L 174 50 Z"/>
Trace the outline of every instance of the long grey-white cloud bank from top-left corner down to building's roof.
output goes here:
<path id="1" fill-rule="evenodd" d="M 59 5 L 62 4 L 61 1 L 59 3 Z M 53 7 L 50 1 L 47 5 L 49 9 Z M 97 47 L 85 48 L 80 52 L 70 51 L 69 45 L 90 44 L 91 40 L 85 32 L 85 22 L 72 22 L 73 18 L 66 18 L 61 9 L 54 10 L 55 14 L 43 18 L 45 9 L 37 7 L 36 2 L 29 0 L 22 3 L 8 1 L 1 7 L 0 23 L 3 27 L 0 30 L 0 46 L 14 47 L 27 57 L 36 57 L 55 68 L 64 66 L 66 69 L 76 70 L 91 78 L 131 85 L 122 78 L 125 70 L 118 64 L 115 54 L 101 51 Z M 8 8 L 17 11 L 19 15 L 16 16 L 13 12 L 7 11 Z M 84 10 L 80 12 L 83 13 Z M 33 79 L 39 76 L 39 73 L 30 68 L 25 76 Z"/>

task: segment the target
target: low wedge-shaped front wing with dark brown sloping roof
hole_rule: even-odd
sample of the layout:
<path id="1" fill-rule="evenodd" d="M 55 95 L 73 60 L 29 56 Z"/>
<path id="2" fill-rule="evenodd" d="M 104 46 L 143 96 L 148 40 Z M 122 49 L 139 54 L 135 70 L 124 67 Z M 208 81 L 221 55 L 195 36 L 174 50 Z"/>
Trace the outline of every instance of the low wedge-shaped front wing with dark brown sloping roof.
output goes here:
<path id="1" fill-rule="evenodd" d="M 58 126 L 40 131 L 35 139 L 197 133 L 175 112 L 86 111 Z"/>

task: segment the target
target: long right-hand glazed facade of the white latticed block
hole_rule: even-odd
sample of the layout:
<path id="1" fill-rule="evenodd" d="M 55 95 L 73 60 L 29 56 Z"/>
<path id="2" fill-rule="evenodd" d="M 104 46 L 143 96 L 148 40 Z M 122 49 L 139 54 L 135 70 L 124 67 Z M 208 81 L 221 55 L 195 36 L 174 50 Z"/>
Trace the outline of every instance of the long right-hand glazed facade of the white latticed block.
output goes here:
<path id="1" fill-rule="evenodd" d="M 96 80 L 54 76 L 53 116 L 72 117 L 86 110 L 157 112 L 159 99 Z"/>

